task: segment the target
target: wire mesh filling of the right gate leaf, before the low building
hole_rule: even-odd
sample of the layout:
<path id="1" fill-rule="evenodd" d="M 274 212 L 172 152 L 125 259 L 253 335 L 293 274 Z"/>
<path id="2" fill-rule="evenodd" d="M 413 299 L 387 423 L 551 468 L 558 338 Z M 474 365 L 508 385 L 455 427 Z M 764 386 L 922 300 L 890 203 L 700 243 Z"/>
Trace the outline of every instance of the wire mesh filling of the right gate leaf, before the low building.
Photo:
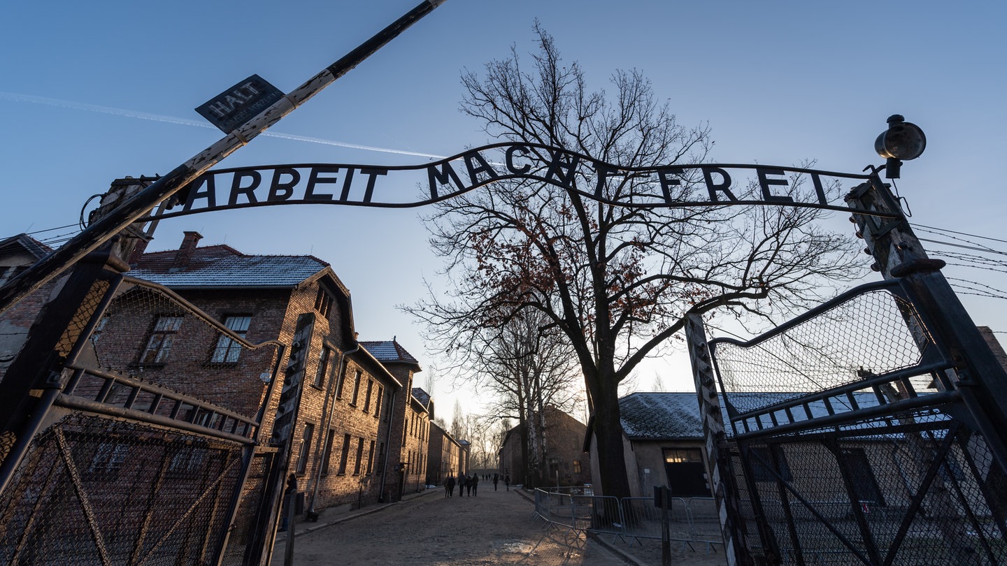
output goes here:
<path id="1" fill-rule="evenodd" d="M 1007 475 L 897 281 L 710 348 L 752 561 L 1007 564 Z"/>

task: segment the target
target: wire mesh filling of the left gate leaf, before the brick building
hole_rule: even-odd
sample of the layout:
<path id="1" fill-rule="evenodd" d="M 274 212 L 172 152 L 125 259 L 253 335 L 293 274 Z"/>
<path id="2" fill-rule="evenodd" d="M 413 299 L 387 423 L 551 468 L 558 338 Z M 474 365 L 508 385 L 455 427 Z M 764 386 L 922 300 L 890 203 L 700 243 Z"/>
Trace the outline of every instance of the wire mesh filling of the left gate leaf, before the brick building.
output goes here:
<path id="1" fill-rule="evenodd" d="M 278 475 L 256 439 L 280 348 L 156 285 L 112 291 L 0 493 L 0 560 L 259 562 Z"/>

